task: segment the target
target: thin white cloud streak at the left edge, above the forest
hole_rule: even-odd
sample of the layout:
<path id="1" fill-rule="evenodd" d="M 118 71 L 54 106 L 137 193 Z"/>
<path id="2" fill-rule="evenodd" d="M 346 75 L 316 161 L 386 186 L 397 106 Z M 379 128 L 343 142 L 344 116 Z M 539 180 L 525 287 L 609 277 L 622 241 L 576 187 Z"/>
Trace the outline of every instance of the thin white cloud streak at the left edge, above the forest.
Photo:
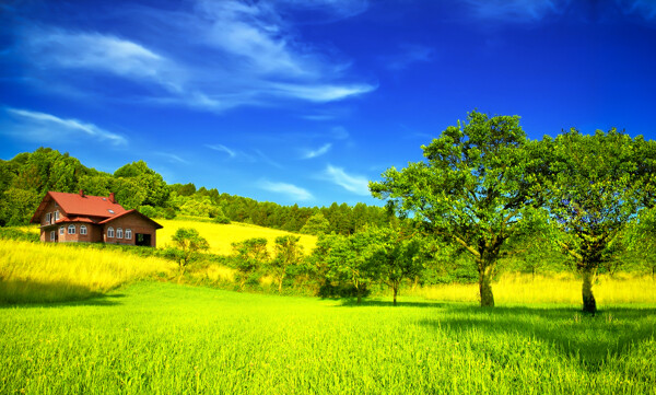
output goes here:
<path id="1" fill-rule="evenodd" d="M 4 108 L 4 111 L 16 118 L 14 125 L 21 131 L 20 137 L 27 137 L 35 141 L 51 141 L 56 138 L 79 138 L 81 135 L 101 141 L 108 141 L 114 146 L 126 144 L 125 137 L 72 118 L 60 118 L 51 114 L 33 112 L 20 108 Z M 9 127 L 12 129 L 12 127 Z M 11 132 L 11 130 L 9 130 Z"/>

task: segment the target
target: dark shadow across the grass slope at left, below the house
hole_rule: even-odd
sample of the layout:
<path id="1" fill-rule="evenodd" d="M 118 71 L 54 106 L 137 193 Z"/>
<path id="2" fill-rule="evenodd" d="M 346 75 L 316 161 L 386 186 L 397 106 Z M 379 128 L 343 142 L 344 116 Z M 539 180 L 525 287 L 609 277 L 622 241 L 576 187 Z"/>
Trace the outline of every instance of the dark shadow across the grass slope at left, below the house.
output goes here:
<path id="1" fill-rule="evenodd" d="M 65 281 L 34 280 L 0 281 L 0 309 L 55 306 L 112 306 L 120 304 L 124 294 L 106 294 L 89 287 Z"/>

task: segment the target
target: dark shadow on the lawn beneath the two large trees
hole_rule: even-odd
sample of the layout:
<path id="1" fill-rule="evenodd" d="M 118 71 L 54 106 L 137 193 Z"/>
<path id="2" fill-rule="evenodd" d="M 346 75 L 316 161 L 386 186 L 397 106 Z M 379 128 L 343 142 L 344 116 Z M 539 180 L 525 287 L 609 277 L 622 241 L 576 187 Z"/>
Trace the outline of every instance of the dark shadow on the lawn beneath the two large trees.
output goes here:
<path id="1" fill-rule="evenodd" d="M 466 310 L 447 307 L 444 315 L 419 324 L 455 338 L 482 330 L 492 336 L 539 339 L 554 345 L 584 369 L 596 372 L 609 358 L 629 353 L 635 345 L 653 338 L 655 314 L 656 309 L 642 307 L 608 307 L 593 316 L 576 307 L 470 306 Z M 482 351 L 493 352 L 491 347 Z"/>

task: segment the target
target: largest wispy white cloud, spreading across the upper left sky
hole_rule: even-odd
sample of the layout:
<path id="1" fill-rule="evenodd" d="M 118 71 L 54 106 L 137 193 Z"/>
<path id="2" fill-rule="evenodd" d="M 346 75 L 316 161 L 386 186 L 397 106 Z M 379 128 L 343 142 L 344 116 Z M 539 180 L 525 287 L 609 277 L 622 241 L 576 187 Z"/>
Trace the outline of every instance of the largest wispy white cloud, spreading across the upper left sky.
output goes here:
<path id="1" fill-rule="evenodd" d="M 196 0 L 176 12 L 134 7 L 128 18 L 149 28 L 118 35 L 30 24 L 15 51 L 26 73 L 58 72 L 57 80 L 71 91 L 94 88 L 96 74 L 109 74 L 149 86 L 132 101 L 209 112 L 335 102 L 375 90 L 376 84 L 349 75 L 348 59 L 340 60 L 332 48 L 328 56 L 285 22 L 283 11 L 307 10 L 304 3 Z M 366 9 L 365 1 L 355 0 L 315 3 L 339 18 Z M 112 18 L 117 16 L 106 15 Z M 96 95 L 112 94 L 96 88 Z"/>

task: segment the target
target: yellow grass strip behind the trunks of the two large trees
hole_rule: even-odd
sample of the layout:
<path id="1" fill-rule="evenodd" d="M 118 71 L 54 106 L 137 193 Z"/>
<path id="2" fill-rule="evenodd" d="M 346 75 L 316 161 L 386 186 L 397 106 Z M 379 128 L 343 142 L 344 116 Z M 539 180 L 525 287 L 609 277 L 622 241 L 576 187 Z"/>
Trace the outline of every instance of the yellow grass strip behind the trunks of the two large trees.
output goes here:
<path id="1" fill-rule="evenodd" d="M 507 274 L 492 284 L 494 301 L 503 303 L 581 304 L 581 279 L 572 274 L 551 277 Z M 599 276 L 593 287 L 599 305 L 621 303 L 656 303 L 656 282 L 649 277 Z M 479 300 L 478 284 L 443 284 L 409 291 L 411 294 L 442 301 Z"/>

